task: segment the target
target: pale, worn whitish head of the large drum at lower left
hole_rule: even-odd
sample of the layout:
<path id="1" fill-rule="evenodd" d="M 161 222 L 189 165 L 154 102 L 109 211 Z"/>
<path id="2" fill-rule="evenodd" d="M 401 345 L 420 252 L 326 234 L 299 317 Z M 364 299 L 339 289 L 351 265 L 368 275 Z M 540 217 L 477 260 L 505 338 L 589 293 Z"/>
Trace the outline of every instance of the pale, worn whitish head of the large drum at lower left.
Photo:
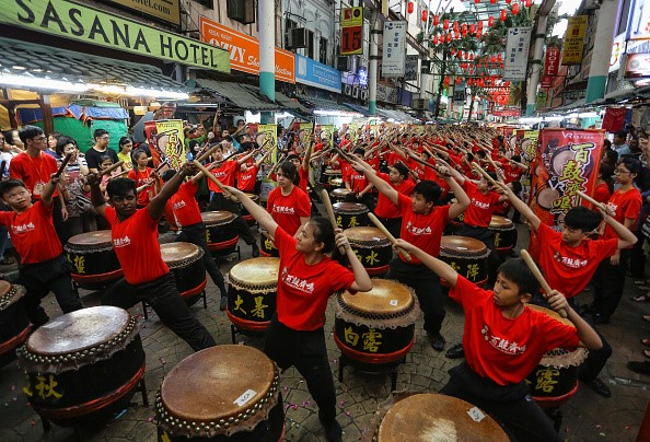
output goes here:
<path id="1" fill-rule="evenodd" d="M 40 326 L 27 338 L 27 350 L 40 356 L 68 354 L 104 344 L 129 322 L 126 310 L 109 305 L 78 310 Z"/>

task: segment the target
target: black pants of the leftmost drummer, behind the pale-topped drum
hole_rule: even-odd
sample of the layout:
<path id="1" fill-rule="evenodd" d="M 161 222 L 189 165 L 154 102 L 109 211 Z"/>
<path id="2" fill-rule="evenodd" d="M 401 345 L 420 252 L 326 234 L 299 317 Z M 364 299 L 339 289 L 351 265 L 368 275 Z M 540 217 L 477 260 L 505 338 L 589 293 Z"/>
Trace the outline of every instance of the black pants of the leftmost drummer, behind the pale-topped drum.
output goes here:
<path id="1" fill-rule="evenodd" d="M 72 290 L 70 270 L 70 263 L 65 255 L 43 263 L 21 266 L 18 282 L 27 289 L 24 302 L 32 324 L 42 326 L 49 321 L 40 305 L 40 300 L 50 291 L 54 292 L 63 313 L 83 309 L 79 294 Z"/>

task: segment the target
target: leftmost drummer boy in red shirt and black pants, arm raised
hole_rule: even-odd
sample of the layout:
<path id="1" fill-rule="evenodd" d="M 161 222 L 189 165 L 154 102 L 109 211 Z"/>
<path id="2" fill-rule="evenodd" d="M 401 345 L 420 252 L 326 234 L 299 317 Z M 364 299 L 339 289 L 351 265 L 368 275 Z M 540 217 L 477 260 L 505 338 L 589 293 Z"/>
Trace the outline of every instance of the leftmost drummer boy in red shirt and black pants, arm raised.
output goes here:
<path id="1" fill-rule="evenodd" d="M 44 185 L 40 199 L 34 203 L 30 190 L 20 179 L 0 184 L 2 200 L 13 210 L 0 212 L 0 225 L 9 230 L 22 259 L 19 283 L 27 289 L 25 309 L 34 327 L 49 321 L 40 300 L 50 290 L 63 313 L 83 309 L 79 294 L 72 290 L 70 263 L 63 255 L 51 220 L 53 195 L 58 183 L 59 178 L 53 176 Z"/>

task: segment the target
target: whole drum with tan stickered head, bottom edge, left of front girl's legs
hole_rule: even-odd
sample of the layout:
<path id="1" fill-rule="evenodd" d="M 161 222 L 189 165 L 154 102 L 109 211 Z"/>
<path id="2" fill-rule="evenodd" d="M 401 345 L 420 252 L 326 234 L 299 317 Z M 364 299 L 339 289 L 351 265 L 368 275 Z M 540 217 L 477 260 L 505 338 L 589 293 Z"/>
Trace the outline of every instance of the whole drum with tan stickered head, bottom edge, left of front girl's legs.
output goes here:
<path id="1" fill-rule="evenodd" d="M 182 360 L 155 397 L 158 440 L 277 442 L 285 434 L 278 367 L 248 346 Z"/>

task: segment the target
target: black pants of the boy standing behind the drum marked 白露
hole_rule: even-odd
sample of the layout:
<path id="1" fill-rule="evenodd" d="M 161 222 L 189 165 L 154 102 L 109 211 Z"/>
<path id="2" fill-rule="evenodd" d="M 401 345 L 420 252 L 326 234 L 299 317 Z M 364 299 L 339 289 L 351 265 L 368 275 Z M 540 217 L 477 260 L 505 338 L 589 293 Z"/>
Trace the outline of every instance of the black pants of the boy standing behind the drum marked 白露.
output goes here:
<path id="1" fill-rule="evenodd" d="M 414 289 L 425 316 L 425 330 L 433 335 L 440 333 L 446 314 L 442 305 L 440 277 L 423 264 L 408 264 L 397 257 L 391 261 L 386 279 L 395 279 Z"/>

